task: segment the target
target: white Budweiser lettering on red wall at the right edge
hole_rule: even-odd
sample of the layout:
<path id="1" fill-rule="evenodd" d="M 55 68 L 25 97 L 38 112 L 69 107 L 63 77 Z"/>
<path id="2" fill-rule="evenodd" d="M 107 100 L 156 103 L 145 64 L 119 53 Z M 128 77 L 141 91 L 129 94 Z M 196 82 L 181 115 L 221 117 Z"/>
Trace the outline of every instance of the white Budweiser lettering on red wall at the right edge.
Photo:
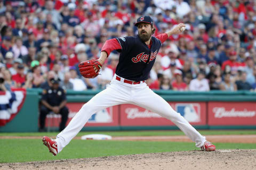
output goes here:
<path id="1" fill-rule="evenodd" d="M 236 111 L 235 108 L 232 108 L 230 111 L 226 111 L 225 107 L 213 107 L 212 109 L 214 113 L 214 117 L 253 117 L 255 116 L 255 111 L 247 111 L 244 109 L 243 111 Z"/>

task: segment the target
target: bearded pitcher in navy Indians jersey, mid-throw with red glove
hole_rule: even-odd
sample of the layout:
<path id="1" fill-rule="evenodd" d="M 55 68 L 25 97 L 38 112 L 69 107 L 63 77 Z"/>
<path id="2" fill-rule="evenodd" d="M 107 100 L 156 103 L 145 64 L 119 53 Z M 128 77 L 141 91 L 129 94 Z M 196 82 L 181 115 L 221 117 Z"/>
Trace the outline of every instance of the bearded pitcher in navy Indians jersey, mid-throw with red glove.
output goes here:
<path id="1" fill-rule="evenodd" d="M 107 40 L 101 49 L 99 60 L 89 60 L 78 65 L 83 77 L 95 78 L 108 55 L 113 50 L 120 52 L 119 63 L 110 86 L 84 104 L 56 139 L 43 137 L 44 145 L 53 155 L 57 155 L 68 145 L 94 113 L 119 104 L 134 104 L 157 113 L 175 123 L 196 143 L 196 147 L 206 151 L 215 150 L 212 143 L 206 141 L 205 137 L 197 132 L 183 116 L 174 111 L 145 83 L 161 45 L 170 35 L 181 33 L 185 29 L 185 24 L 180 23 L 171 31 L 156 37 L 152 36 L 155 27 L 150 16 L 140 16 L 135 26 L 138 28 L 138 36 Z"/>

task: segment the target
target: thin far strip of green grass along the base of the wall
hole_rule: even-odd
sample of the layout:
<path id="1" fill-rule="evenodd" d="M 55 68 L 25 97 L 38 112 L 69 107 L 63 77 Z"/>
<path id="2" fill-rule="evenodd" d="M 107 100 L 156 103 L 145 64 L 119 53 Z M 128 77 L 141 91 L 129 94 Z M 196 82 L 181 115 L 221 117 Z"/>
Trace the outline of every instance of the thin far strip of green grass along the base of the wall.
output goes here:
<path id="1" fill-rule="evenodd" d="M 228 134 L 256 134 L 255 130 L 201 130 L 199 131 L 202 135 L 228 135 Z M 173 131 L 173 130 L 166 130 L 166 131 L 94 131 L 94 132 L 79 132 L 77 134 L 78 137 L 86 134 L 108 134 L 113 137 L 117 136 L 161 136 L 161 135 L 184 135 L 182 131 Z M 54 137 L 58 134 L 58 132 L 36 132 L 36 133 L 1 133 L 0 136 L 19 136 L 19 137 L 26 137 L 26 136 L 50 136 Z"/>

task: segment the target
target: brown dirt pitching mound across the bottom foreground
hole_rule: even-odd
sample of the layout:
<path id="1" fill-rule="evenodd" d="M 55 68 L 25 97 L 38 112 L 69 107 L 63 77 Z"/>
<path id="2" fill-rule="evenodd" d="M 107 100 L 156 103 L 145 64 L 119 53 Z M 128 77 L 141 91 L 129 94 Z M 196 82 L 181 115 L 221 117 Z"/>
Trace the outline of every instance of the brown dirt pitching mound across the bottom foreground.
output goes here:
<path id="1" fill-rule="evenodd" d="M 256 149 L 164 152 L 0 164 L 0 169 L 255 169 Z"/>

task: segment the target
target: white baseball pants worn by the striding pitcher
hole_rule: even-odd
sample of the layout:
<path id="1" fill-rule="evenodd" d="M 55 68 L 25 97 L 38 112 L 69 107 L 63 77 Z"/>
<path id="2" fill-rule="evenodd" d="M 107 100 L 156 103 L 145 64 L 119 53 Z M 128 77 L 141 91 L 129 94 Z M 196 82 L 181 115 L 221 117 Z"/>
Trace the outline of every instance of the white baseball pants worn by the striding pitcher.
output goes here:
<path id="1" fill-rule="evenodd" d="M 107 89 L 99 92 L 82 106 L 67 127 L 57 135 L 58 152 L 81 131 L 94 113 L 119 104 L 134 104 L 157 113 L 177 125 L 187 137 L 196 143 L 196 147 L 203 146 L 205 137 L 197 132 L 183 116 L 174 111 L 162 97 L 149 89 L 146 83 L 141 81 L 140 84 L 128 84 L 123 81 L 123 78 L 121 81 L 116 80 L 115 74 Z"/>

